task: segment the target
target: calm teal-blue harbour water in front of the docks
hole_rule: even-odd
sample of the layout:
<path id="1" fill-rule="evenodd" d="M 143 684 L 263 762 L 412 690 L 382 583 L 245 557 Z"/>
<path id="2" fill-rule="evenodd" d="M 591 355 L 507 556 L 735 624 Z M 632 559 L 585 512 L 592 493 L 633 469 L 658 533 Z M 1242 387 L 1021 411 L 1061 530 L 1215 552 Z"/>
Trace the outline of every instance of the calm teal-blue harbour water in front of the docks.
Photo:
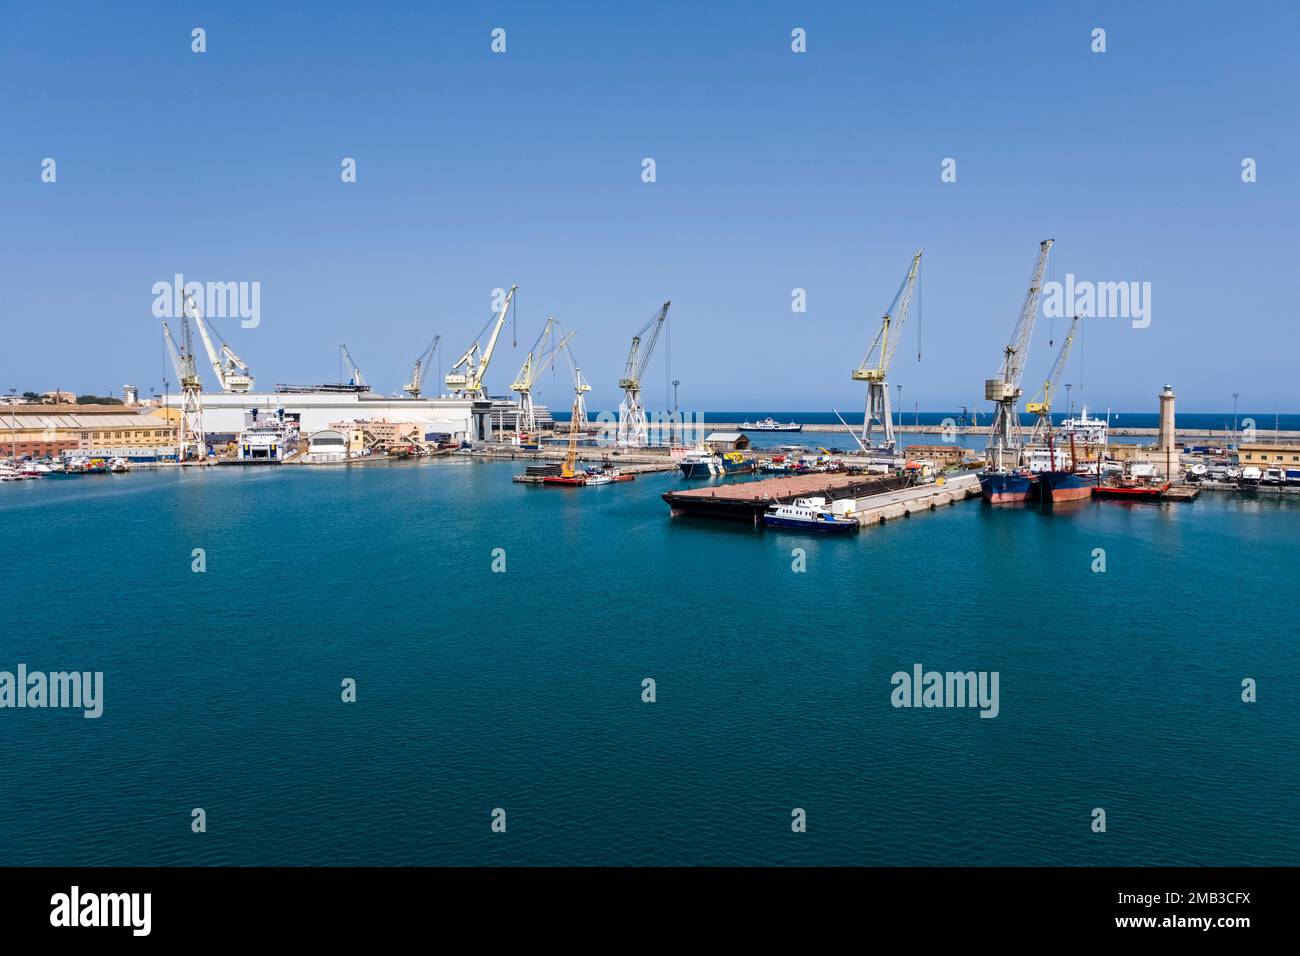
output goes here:
<path id="1" fill-rule="evenodd" d="M 1300 506 L 826 540 L 519 470 L 0 485 L 0 670 L 105 675 L 98 721 L 0 710 L 3 862 L 1297 862 Z M 914 663 L 1000 715 L 893 708 Z"/>

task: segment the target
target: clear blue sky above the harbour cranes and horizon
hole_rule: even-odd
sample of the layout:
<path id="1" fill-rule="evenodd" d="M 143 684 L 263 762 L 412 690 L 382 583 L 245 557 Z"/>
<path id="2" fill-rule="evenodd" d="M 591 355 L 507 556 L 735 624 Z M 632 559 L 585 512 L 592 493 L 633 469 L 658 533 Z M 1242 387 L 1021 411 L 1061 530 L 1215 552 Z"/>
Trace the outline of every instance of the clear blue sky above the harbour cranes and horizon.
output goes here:
<path id="1" fill-rule="evenodd" d="M 1084 323 L 1075 403 L 1153 411 L 1169 381 L 1180 410 L 1234 390 L 1296 410 L 1297 10 L 8 4 L 0 386 L 161 389 L 150 290 L 183 272 L 261 284 L 261 325 L 221 325 L 260 384 L 333 381 L 346 342 L 391 392 L 434 330 L 446 367 L 517 282 L 494 393 L 554 313 L 610 407 L 671 298 L 685 408 L 861 414 L 849 373 L 924 246 L 924 358 L 913 323 L 892 378 L 909 408 L 985 408 L 1052 237 L 1057 278 L 1153 285 L 1150 328 Z M 566 376 L 543 401 L 567 405 Z"/>

